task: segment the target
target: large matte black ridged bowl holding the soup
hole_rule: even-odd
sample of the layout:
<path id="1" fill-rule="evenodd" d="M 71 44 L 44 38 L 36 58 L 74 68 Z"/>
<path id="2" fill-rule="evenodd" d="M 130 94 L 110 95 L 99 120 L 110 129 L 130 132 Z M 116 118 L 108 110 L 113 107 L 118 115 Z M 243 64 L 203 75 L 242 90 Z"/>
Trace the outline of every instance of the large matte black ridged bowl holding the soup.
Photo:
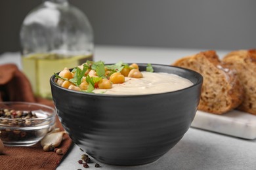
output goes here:
<path id="1" fill-rule="evenodd" d="M 140 165 L 158 160 L 188 131 L 200 101 L 199 73 L 169 65 L 155 72 L 174 73 L 194 85 L 149 95 L 104 95 L 76 92 L 56 84 L 51 90 L 57 114 L 70 137 L 97 161 Z M 139 64 L 145 71 L 146 64 Z"/>

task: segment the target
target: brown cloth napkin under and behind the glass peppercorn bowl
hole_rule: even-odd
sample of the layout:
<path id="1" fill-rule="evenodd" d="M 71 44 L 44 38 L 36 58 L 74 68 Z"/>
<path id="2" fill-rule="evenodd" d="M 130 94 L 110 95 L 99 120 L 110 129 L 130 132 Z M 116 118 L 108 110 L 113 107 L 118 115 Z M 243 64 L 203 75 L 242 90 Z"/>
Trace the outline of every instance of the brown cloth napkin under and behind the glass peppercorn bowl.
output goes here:
<path id="1" fill-rule="evenodd" d="M 26 101 L 41 103 L 54 107 L 53 101 L 34 97 L 31 84 L 26 76 L 14 64 L 0 65 L 0 101 Z M 58 117 L 56 127 L 63 130 Z M 29 147 L 5 146 L 0 155 L 0 169 L 56 169 L 72 140 L 66 134 L 62 141 L 62 155 L 55 152 L 44 152 L 40 143 Z"/>

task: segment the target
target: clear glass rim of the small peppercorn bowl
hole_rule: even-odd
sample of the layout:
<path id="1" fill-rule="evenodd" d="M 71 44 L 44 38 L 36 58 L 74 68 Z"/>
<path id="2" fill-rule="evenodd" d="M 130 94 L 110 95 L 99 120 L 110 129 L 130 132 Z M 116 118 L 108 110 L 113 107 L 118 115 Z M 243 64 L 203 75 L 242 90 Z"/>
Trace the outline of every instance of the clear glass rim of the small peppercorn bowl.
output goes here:
<path id="1" fill-rule="evenodd" d="M 53 112 L 51 113 L 51 115 L 47 115 L 44 118 L 27 118 L 26 120 L 48 120 L 51 119 L 53 117 L 56 116 L 57 112 L 53 107 L 49 107 L 47 105 L 43 105 L 41 103 L 33 103 L 33 102 L 26 102 L 26 101 L 1 101 L 0 104 L 7 104 L 7 105 L 11 105 L 11 104 L 22 104 L 22 105 L 34 105 L 34 106 L 39 106 L 39 107 L 45 107 L 46 109 L 50 109 Z M 1 118 L 0 120 L 16 120 L 15 118 Z"/>

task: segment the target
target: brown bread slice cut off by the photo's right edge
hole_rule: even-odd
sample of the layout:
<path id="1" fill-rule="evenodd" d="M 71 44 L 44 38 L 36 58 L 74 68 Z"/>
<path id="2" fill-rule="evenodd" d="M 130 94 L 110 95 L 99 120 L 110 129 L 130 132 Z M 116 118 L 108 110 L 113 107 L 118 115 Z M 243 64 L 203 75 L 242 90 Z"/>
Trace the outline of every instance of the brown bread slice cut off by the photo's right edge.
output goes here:
<path id="1" fill-rule="evenodd" d="M 223 62 L 236 69 L 245 90 L 239 110 L 256 115 L 256 49 L 230 52 Z"/>

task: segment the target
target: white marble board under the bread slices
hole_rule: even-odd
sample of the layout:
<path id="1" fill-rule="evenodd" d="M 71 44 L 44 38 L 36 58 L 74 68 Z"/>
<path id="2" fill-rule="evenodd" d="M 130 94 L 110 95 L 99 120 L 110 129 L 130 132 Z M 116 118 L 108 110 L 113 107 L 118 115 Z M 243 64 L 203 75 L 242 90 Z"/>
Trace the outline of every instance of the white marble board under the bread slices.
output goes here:
<path id="1" fill-rule="evenodd" d="M 239 110 L 221 115 L 198 110 L 191 127 L 243 139 L 256 139 L 256 115 Z"/>

